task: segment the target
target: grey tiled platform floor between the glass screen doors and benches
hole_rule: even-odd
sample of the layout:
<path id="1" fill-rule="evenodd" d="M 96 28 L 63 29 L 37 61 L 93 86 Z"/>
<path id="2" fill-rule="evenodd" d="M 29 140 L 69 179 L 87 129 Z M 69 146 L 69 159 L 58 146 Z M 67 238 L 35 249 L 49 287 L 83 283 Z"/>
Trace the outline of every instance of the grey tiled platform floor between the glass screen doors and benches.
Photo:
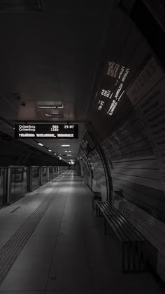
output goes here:
<path id="1" fill-rule="evenodd" d="M 1 209 L 2 251 L 12 236 L 22 236 L 20 230 L 27 229 L 30 220 L 35 225 L 37 209 L 49 197 L 45 214 L 3 279 L 0 294 L 163 293 L 150 273 L 122 274 L 119 244 L 113 233 L 104 236 L 103 220 L 92 212 L 91 192 L 74 171 Z M 17 248 L 22 246 L 19 242 Z"/>

